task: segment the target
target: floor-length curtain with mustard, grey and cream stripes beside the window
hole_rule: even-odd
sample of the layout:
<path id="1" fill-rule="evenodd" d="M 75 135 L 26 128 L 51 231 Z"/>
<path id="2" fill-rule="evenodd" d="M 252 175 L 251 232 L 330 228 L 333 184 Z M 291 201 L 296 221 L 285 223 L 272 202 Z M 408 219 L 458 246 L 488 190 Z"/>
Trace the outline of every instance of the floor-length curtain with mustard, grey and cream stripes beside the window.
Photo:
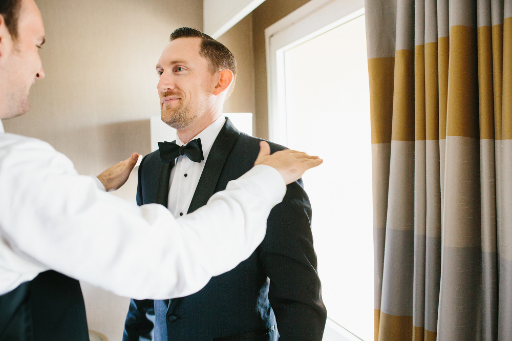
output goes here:
<path id="1" fill-rule="evenodd" d="M 366 0 L 375 340 L 512 340 L 512 0 Z"/>

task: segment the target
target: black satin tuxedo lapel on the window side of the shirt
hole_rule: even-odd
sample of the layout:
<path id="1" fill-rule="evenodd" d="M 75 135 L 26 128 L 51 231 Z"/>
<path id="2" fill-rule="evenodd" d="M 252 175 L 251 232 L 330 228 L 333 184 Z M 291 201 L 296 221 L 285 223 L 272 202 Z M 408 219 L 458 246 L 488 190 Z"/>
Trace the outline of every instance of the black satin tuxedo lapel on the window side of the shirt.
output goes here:
<path id="1" fill-rule="evenodd" d="M 214 195 L 222 168 L 224 168 L 226 159 L 239 136 L 240 131 L 226 117 L 226 123 L 224 123 L 214 144 L 211 146 L 203 173 L 201 173 L 201 178 L 199 178 L 196 191 L 194 192 L 194 197 L 190 202 L 190 206 L 188 206 L 188 213 L 194 212 L 199 207 L 206 205 L 208 199 Z"/>

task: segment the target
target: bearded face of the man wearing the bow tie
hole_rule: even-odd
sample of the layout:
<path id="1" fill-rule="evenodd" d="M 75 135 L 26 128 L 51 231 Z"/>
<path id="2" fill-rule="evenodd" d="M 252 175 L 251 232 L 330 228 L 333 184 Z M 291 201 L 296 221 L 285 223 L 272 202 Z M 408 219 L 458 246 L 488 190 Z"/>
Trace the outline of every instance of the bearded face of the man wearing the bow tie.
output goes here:
<path id="1" fill-rule="evenodd" d="M 200 38 L 178 38 L 162 52 L 157 64 L 162 121 L 184 130 L 203 115 L 214 96 L 209 62 L 199 55 Z"/>

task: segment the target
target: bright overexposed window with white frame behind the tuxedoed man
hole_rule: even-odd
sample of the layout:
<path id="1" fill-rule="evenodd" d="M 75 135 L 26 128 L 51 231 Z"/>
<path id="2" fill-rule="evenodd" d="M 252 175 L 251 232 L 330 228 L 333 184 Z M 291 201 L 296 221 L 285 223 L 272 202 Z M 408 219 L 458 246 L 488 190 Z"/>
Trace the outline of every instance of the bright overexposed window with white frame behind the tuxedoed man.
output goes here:
<path id="1" fill-rule="evenodd" d="M 304 176 L 324 341 L 373 339 L 370 96 L 364 4 L 354 3 L 313 0 L 266 31 L 270 139 L 324 159 Z"/>

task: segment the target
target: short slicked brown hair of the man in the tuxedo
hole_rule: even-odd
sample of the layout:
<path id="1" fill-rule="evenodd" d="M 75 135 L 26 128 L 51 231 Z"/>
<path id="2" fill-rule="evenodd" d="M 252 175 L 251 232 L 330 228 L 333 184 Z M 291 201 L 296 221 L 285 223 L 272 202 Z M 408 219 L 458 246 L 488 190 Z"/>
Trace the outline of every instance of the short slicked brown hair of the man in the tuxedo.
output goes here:
<path id="1" fill-rule="evenodd" d="M 231 51 L 221 42 L 195 28 L 180 27 L 170 34 L 169 41 L 178 38 L 201 38 L 199 54 L 210 62 L 211 73 L 224 69 L 231 70 L 233 73 L 233 82 L 228 90 L 227 97 L 229 97 L 233 92 L 234 82 L 237 79 L 237 61 L 234 59 Z"/>

